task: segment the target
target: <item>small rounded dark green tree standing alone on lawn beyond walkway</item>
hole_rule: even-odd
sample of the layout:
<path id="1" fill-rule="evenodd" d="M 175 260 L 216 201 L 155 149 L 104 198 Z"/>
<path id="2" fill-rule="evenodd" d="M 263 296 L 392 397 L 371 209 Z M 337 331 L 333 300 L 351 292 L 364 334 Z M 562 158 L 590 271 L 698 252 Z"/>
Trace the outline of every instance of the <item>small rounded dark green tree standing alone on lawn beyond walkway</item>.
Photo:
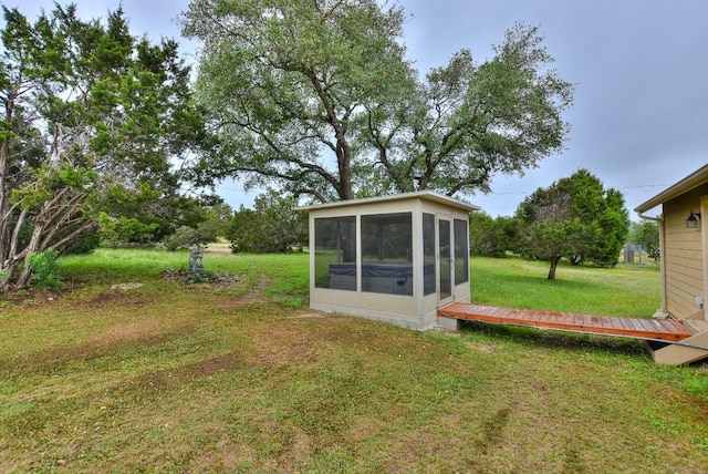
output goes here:
<path id="1" fill-rule="evenodd" d="M 516 218 L 521 251 L 549 259 L 551 280 L 562 257 L 614 267 L 629 229 L 622 193 L 605 189 L 586 169 L 537 189 L 519 205 Z"/>

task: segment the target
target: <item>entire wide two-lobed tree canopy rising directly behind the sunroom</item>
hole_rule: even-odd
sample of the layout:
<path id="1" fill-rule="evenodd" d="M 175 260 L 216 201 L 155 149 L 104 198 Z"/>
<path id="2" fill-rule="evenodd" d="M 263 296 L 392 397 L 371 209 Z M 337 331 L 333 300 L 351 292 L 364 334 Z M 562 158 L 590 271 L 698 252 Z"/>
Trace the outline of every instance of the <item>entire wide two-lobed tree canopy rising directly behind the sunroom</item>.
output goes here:
<path id="1" fill-rule="evenodd" d="M 326 202 L 434 189 L 489 190 L 560 152 L 573 86 L 518 24 L 489 61 L 468 50 L 420 79 L 405 12 L 376 0 L 192 0 L 197 97 L 219 146 L 199 175 L 273 183 Z"/>

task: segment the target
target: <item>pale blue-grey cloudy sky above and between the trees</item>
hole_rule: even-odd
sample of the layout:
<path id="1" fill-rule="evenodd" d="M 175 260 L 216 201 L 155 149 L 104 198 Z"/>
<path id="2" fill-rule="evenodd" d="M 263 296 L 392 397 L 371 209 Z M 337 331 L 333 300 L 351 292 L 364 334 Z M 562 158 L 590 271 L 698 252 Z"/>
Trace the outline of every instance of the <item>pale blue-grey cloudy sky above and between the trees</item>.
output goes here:
<path id="1" fill-rule="evenodd" d="M 33 19 L 50 0 L 0 0 Z M 65 2 L 60 2 L 64 4 Z M 105 18 L 118 0 L 77 0 L 84 18 Z M 470 200 L 511 215 L 539 187 L 587 168 L 622 190 L 634 209 L 708 163 L 708 2 L 705 0 L 400 0 L 404 41 L 421 72 L 470 49 L 477 61 L 514 22 L 539 27 L 561 78 L 576 84 L 562 154 L 523 177 L 498 176 Z M 179 39 L 188 0 L 123 0 L 134 34 Z M 195 44 L 186 44 L 194 50 Z M 238 183 L 220 194 L 252 203 Z M 632 217 L 636 219 L 634 213 Z"/>

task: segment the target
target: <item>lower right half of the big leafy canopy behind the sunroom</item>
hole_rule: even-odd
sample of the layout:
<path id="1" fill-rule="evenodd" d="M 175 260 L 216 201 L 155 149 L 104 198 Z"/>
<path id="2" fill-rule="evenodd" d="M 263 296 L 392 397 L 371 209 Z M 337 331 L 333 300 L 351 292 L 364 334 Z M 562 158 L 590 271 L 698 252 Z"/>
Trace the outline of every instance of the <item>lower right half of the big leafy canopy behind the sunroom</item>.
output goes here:
<path id="1" fill-rule="evenodd" d="M 535 28 L 517 24 L 497 55 L 476 65 L 469 51 L 427 75 L 428 112 L 413 124 L 418 187 L 446 194 L 489 190 L 497 173 L 523 174 L 560 152 L 569 126 L 572 85 L 545 66 L 552 61 Z M 409 176 L 413 178 L 414 176 Z"/>

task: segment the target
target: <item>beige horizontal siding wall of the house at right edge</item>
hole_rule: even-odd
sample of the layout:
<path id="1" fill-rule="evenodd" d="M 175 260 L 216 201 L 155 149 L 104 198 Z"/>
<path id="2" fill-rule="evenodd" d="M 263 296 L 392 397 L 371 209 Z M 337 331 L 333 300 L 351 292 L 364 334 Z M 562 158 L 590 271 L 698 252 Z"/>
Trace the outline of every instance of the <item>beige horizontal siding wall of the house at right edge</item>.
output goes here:
<path id="1" fill-rule="evenodd" d="M 696 312 L 696 297 L 706 297 L 702 235 L 708 226 L 701 219 L 697 229 L 687 229 L 686 218 L 691 210 L 701 212 L 701 196 L 707 194 L 704 185 L 664 204 L 667 310 L 678 318 Z"/>

